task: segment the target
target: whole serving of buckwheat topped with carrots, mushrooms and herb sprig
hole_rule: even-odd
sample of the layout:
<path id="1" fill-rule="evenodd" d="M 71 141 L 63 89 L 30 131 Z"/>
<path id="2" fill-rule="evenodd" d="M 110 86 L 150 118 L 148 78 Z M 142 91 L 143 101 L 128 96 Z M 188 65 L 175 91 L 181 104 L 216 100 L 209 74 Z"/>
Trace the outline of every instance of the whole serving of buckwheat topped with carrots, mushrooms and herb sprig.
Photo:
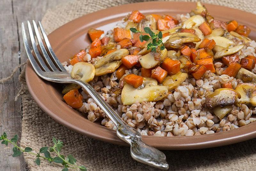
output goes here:
<path id="1" fill-rule="evenodd" d="M 89 29 L 89 47 L 65 63 L 142 135 L 190 136 L 255 121 L 255 41 L 235 19 L 214 19 L 200 3 L 187 15 L 128 14 L 113 29 Z M 91 121 L 113 122 L 75 84 L 66 103 Z"/>

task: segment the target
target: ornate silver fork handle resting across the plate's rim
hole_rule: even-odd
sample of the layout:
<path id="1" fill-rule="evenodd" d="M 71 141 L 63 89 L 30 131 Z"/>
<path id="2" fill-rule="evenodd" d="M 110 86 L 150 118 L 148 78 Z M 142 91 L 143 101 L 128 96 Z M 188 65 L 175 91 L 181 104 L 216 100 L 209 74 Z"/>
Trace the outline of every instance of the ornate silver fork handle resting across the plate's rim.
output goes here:
<path id="1" fill-rule="evenodd" d="M 143 143 L 140 133 L 136 129 L 129 127 L 92 86 L 80 80 L 70 80 L 70 82 L 76 83 L 86 90 L 97 105 L 113 121 L 117 128 L 117 136 L 131 145 L 130 150 L 133 159 L 160 169 L 167 170 L 169 168 L 164 153 Z"/>

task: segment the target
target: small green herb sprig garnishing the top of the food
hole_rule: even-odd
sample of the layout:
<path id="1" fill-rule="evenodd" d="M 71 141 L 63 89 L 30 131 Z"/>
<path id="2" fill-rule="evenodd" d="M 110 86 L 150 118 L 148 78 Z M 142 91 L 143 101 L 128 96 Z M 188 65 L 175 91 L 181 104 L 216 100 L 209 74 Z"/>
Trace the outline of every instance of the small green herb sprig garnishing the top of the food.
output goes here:
<path id="1" fill-rule="evenodd" d="M 136 28 L 130 28 L 130 30 L 133 33 L 140 33 L 140 42 L 148 41 L 150 38 L 152 39 L 152 42 L 148 43 L 147 50 L 151 49 L 151 51 L 156 52 L 156 48 L 160 47 L 160 50 L 164 50 L 164 44 L 163 44 L 163 34 L 160 31 L 158 34 L 155 34 L 149 27 L 144 27 L 144 32 L 138 31 Z M 142 33 L 148 33 L 148 35 L 142 35 Z"/>

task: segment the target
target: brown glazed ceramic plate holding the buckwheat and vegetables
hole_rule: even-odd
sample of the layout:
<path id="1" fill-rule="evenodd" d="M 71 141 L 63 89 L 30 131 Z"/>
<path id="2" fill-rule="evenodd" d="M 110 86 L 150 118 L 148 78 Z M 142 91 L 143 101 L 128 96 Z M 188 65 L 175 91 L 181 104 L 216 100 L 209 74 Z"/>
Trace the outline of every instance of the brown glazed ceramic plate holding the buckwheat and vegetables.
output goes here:
<path id="1" fill-rule="evenodd" d="M 99 28 L 105 32 L 111 29 L 116 21 L 121 20 L 132 10 L 139 10 L 143 14 L 186 14 L 195 8 L 196 3 L 185 2 L 145 2 L 126 4 L 112 7 L 75 19 L 53 31 L 49 36 L 52 48 L 61 62 L 84 49 L 91 42 L 87 35 L 89 28 Z M 205 4 L 210 14 L 223 21 L 236 19 L 239 24 L 245 24 L 252 29 L 250 37 L 256 40 L 256 15 L 227 7 Z M 116 136 L 114 130 L 93 123 L 70 108 L 63 101 L 60 85 L 40 79 L 30 63 L 26 68 L 26 82 L 28 89 L 36 103 L 54 120 L 66 127 L 108 143 L 126 145 Z M 256 137 L 256 122 L 227 132 L 200 136 L 155 137 L 143 136 L 143 141 L 159 149 L 184 150 L 201 149 L 222 146 L 245 141 Z"/>

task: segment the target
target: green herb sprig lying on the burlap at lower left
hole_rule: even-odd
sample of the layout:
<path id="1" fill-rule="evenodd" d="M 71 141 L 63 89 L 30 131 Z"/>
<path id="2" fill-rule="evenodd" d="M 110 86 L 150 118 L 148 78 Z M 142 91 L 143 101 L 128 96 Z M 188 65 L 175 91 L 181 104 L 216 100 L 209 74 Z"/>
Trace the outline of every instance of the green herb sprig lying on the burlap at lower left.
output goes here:
<path id="1" fill-rule="evenodd" d="M 40 159 L 45 159 L 49 161 L 50 163 L 55 162 L 55 163 L 61 163 L 64 168 L 62 171 L 68 171 L 68 168 L 72 169 L 80 169 L 81 171 L 86 171 L 86 167 L 84 166 L 77 166 L 76 165 L 76 159 L 69 154 L 66 158 L 64 155 L 60 154 L 60 151 L 63 147 L 63 142 L 60 140 L 56 140 L 56 138 L 52 137 L 52 142 L 53 146 L 52 147 L 42 147 L 40 148 L 39 152 L 34 153 L 32 152 L 33 149 L 30 147 L 26 147 L 25 149 L 21 148 L 18 146 L 17 141 L 18 141 L 18 135 L 16 134 L 11 140 L 7 138 L 7 134 L 4 132 L 3 135 L 1 135 L 0 140 L 2 140 L 2 144 L 5 144 L 6 146 L 8 143 L 12 144 L 14 147 L 12 148 L 13 157 L 18 157 L 22 154 L 22 152 L 27 152 L 29 154 L 35 155 L 37 158 L 35 160 L 35 163 L 37 165 L 40 165 L 41 161 Z M 55 152 L 56 157 L 51 157 L 50 152 Z M 44 154 L 44 156 L 42 155 Z"/>

